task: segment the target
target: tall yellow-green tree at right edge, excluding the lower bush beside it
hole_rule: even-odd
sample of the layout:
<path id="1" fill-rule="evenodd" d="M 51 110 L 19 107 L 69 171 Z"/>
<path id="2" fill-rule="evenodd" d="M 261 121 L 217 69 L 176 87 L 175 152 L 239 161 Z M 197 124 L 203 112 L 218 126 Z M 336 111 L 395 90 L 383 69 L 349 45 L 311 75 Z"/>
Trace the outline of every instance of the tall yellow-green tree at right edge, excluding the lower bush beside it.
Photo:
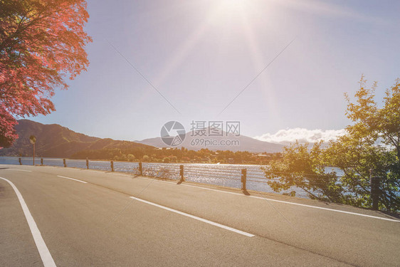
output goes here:
<path id="1" fill-rule="evenodd" d="M 352 103 L 347 98 L 347 117 L 354 122 L 347 135 L 331 142 L 327 163 L 340 167 L 342 181 L 354 195 L 357 206 L 371 205 L 369 175 L 381 178 L 379 207 L 400 209 L 400 80 L 385 92 L 382 108 L 375 101 L 377 83 L 366 87 L 364 78 Z"/>

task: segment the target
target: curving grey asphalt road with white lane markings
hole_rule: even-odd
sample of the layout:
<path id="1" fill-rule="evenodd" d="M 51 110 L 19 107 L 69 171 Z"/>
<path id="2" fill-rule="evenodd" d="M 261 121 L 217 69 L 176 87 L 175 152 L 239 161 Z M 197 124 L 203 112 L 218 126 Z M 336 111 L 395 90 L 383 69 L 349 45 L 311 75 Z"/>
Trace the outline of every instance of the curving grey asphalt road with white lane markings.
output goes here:
<path id="1" fill-rule="evenodd" d="M 400 265 L 400 220 L 379 211 L 63 167 L 0 177 L 0 266 Z"/>

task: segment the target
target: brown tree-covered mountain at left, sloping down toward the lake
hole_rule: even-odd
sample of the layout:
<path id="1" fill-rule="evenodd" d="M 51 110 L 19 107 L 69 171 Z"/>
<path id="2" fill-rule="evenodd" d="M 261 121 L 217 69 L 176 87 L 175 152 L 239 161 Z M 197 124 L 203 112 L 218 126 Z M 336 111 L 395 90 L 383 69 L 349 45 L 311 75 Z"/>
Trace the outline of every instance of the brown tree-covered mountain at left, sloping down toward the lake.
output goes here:
<path id="1" fill-rule="evenodd" d="M 29 136 L 36 136 L 36 155 L 38 157 L 70 157 L 82 150 L 101 150 L 114 148 L 152 148 L 148 145 L 130 141 L 90 137 L 57 124 L 43 125 L 32 120 L 19 120 L 16 132 L 19 138 L 9 148 L 0 149 L 0 156 L 32 155 Z"/>

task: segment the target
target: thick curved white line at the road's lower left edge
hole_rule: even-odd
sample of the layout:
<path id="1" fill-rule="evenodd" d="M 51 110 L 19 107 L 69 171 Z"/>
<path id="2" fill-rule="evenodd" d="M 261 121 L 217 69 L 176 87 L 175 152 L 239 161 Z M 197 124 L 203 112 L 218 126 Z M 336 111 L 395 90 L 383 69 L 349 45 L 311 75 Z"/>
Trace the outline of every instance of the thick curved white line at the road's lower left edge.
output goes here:
<path id="1" fill-rule="evenodd" d="M 19 199 L 19 203 L 21 204 L 23 214 L 25 214 L 26 221 L 28 221 L 29 229 L 31 229 L 33 240 L 35 241 L 36 247 L 38 248 L 39 254 L 43 261 L 43 266 L 45 266 L 45 267 L 56 266 L 56 263 L 54 262 L 50 251 L 48 251 L 46 243 L 44 243 L 44 240 L 42 238 L 41 232 L 39 231 L 38 226 L 36 225 L 36 222 L 33 219 L 33 216 L 31 215 L 31 212 L 29 212 L 28 206 L 26 206 L 26 203 L 23 200 L 21 193 L 16 188 L 16 186 L 8 179 L 2 178 L 2 177 L 0 177 L 0 179 L 4 179 L 6 182 L 11 184 L 11 187 L 14 189 L 16 196 Z"/>

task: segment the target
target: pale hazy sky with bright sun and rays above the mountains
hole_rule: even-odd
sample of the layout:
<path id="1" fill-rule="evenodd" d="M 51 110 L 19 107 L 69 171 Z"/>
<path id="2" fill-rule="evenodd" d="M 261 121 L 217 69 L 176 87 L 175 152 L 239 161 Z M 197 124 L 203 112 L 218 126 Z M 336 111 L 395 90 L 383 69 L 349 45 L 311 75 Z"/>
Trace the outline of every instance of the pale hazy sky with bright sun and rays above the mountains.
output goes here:
<path id="1" fill-rule="evenodd" d="M 399 11 L 400 1 L 88 0 L 88 71 L 56 90 L 55 112 L 29 119 L 116 140 L 159 137 L 170 120 L 188 131 L 240 121 L 241 135 L 270 142 L 329 139 L 349 125 L 344 93 L 362 75 L 379 82 L 379 101 L 400 78 Z"/>

